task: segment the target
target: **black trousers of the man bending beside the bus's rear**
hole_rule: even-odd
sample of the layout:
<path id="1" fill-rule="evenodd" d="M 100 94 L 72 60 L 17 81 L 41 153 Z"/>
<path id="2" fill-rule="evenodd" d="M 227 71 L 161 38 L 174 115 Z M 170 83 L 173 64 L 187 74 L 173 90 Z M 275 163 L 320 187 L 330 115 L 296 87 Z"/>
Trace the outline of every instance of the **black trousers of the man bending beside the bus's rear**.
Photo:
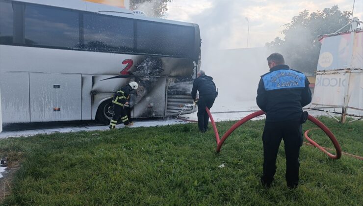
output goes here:
<path id="1" fill-rule="evenodd" d="M 215 95 L 204 95 L 198 99 L 198 128 L 200 131 L 206 131 L 208 127 L 209 116 L 206 106 L 210 109 L 213 106 Z"/>

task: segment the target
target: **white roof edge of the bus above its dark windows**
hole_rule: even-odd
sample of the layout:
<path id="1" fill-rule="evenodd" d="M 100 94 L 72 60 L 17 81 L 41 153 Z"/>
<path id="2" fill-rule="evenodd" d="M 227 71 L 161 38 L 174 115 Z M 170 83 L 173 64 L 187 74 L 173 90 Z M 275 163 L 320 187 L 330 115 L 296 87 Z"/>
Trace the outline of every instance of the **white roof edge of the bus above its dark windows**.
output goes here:
<path id="1" fill-rule="evenodd" d="M 134 15 L 129 9 L 120 8 L 116 6 L 105 5 L 101 3 L 93 3 L 85 0 L 15 0 L 19 2 L 35 3 L 41 5 L 49 5 L 55 7 L 62 7 L 68 9 L 75 9 L 81 11 L 95 12 L 104 15 L 126 17 L 131 19 L 139 19 L 160 23 L 169 23 L 182 26 L 193 26 L 192 23 L 178 22 L 173 20 L 166 20 L 161 18 L 146 17 L 141 15 Z"/>

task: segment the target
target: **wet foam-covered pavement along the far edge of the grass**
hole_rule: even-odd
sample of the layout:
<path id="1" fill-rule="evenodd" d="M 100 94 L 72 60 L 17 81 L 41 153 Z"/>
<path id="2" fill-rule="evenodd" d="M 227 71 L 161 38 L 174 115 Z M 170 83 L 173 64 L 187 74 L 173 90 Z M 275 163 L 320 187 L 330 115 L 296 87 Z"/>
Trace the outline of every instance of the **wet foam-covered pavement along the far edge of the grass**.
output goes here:
<path id="1" fill-rule="evenodd" d="M 214 121 L 239 120 L 255 111 L 259 110 L 254 101 L 235 103 L 235 104 L 218 104 L 211 108 Z M 308 110 L 312 116 L 327 115 L 325 112 Z M 197 120 L 197 112 L 191 114 L 180 115 L 184 120 Z M 264 115 L 253 120 L 263 119 Z M 131 127 L 156 127 L 164 125 L 185 124 L 187 121 L 169 117 L 165 119 L 135 119 L 134 125 Z M 123 128 L 122 124 L 116 128 Z M 107 125 L 101 125 L 96 121 L 71 121 L 71 122 L 43 122 L 43 123 L 19 123 L 3 125 L 3 131 L 0 133 L 0 139 L 8 137 L 33 136 L 36 134 L 51 134 L 55 132 L 77 132 L 77 131 L 95 131 L 108 130 Z"/>

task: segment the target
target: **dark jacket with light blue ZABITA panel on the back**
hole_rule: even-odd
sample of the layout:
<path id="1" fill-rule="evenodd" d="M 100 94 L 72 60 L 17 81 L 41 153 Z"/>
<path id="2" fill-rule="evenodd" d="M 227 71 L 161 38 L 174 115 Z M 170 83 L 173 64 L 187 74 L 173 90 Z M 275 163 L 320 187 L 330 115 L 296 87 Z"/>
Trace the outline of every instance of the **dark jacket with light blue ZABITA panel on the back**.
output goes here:
<path id="1" fill-rule="evenodd" d="M 266 122 L 300 120 L 302 107 L 311 102 L 308 78 L 287 65 L 277 65 L 261 76 L 257 105 L 266 112 Z"/>

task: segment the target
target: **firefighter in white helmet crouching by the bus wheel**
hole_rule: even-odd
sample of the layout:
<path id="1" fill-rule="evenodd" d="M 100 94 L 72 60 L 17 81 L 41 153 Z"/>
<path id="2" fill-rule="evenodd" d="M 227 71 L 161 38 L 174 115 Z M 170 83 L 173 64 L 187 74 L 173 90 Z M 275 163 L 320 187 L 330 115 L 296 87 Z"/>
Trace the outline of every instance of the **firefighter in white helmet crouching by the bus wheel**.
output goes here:
<path id="1" fill-rule="evenodd" d="M 130 100 L 130 92 L 132 90 L 136 90 L 138 88 L 138 84 L 135 81 L 131 81 L 128 85 L 121 88 L 121 90 L 117 91 L 113 95 L 112 104 L 113 104 L 113 115 L 110 121 L 110 129 L 115 129 L 117 121 L 120 119 L 124 123 L 125 127 L 129 127 L 132 125 L 129 121 L 130 108 L 129 108 L 129 100 Z M 131 116 L 130 116 L 131 118 Z"/>

